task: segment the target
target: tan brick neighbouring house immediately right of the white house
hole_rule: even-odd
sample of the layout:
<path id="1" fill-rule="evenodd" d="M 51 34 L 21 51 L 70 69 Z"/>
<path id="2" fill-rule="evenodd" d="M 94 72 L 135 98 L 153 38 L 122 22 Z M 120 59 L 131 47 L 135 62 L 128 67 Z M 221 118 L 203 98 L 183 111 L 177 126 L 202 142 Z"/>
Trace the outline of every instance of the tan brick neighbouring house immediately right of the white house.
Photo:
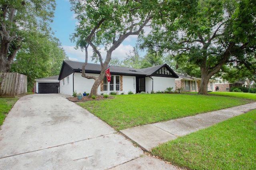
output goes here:
<path id="1" fill-rule="evenodd" d="M 198 92 L 201 84 L 200 78 L 186 76 L 177 72 L 175 73 L 179 76 L 178 78 L 175 78 L 176 91 L 178 91 L 178 88 L 182 88 L 184 92 Z M 215 91 L 215 82 L 213 80 L 209 80 L 207 91 Z"/>

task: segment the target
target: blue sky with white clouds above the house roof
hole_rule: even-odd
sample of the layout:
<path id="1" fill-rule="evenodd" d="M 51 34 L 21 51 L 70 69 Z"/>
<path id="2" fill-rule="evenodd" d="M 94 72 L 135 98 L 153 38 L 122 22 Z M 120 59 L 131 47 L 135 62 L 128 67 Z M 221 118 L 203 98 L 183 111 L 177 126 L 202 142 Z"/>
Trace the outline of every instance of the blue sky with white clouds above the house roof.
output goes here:
<path id="1" fill-rule="evenodd" d="M 70 41 L 70 35 L 75 32 L 76 25 L 78 21 L 74 18 L 74 12 L 70 10 L 71 4 L 69 0 L 56 0 L 56 10 L 54 14 L 54 21 L 51 23 L 52 31 L 55 32 L 55 37 L 57 37 L 62 48 L 65 50 L 66 55 L 72 61 L 84 62 L 85 52 L 80 49 L 74 49 L 75 43 Z M 118 57 L 118 59 L 123 60 L 136 44 L 136 36 L 128 37 L 123 41 L 123 43 L 112 53 L 113 57 Z M 102 56 L 106 54 L 104 50 L 101 50 Z M 89 56 L 92 54 L 92 49 L 89 49 Z M 142 53 L 141 55 L 144 55 Z M 143 57 L 143 56 L 141 56 Z M 92 62 L 88 59 L 88 62 Z"/>

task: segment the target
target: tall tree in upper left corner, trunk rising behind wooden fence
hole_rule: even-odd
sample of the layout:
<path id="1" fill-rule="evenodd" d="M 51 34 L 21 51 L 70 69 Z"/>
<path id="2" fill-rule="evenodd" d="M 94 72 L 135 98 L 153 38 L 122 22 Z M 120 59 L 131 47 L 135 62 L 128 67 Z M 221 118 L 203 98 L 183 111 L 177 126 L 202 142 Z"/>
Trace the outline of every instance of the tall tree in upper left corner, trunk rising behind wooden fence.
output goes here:
<path id="1" fill-rule="evenodd" d="M 55 0 L 0 0 L 0 72 L 10 71 L 30 32 L 50 32 L 55 6 Z"/>

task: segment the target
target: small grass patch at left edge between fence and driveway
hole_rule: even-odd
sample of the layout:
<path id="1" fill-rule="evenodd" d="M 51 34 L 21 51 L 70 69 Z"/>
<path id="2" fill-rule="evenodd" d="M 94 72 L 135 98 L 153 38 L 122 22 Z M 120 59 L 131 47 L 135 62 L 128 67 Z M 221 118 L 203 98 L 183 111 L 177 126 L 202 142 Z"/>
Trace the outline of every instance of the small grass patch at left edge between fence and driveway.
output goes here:
<path id="1" fill-rule="evenodd" d="M 0 98 L 0 126 L 18 98 Z"/>

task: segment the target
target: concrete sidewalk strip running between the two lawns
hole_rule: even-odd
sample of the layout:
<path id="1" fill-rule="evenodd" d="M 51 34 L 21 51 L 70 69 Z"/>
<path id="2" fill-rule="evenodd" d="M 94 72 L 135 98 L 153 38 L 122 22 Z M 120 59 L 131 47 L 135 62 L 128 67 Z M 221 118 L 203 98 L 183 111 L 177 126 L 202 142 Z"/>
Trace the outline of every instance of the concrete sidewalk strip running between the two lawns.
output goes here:
<path id="1" fill-rule="evenodd" d="M 210 127 L 253 109 L 256 109 L 256 102 L 166 122 L 124 129 L 120 132 L 128 139 L 136 142 L 142 149 L 149 152 L 160 143 L 165 143 L 179 136 Z"/>

